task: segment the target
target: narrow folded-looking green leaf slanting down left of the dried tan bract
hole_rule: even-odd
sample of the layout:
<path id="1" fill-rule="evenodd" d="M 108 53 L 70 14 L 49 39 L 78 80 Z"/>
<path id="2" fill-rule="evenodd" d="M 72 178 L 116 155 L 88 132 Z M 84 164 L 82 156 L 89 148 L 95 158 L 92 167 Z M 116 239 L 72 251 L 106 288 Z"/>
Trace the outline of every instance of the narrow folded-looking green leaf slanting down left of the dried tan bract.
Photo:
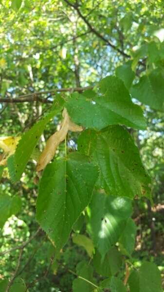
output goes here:
<path id="1" fill-rule="evenodd" d="M 11 155 L 7 160 L 9 174 L 13 182 L 16 182 L 20 179 L 45 126 L 60 110 L 61 108 L 59 107 L 57 110 L 53 110 L 52 112 L 48 113 L 31 129 L 22 135 L 15 154 Z"/>

